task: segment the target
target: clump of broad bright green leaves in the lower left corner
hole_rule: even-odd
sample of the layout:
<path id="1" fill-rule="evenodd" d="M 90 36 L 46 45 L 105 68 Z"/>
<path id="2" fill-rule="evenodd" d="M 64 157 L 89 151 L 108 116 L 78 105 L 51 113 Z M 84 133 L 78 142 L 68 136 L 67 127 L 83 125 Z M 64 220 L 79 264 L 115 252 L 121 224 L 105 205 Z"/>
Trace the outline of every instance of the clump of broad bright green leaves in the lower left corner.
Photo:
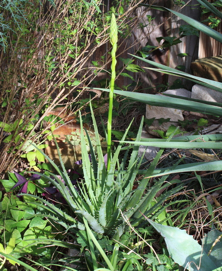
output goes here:
<path id="1" fill-rule="evenodd" d="M 35 205 L 37 202 L 20 201 L 18 197 L 5 195 L 0 203 L 0 254 L 12 255 L 6 257 L 12 264 L 27 253 L 34 256 L 50 258 L 55 247 L 43 247 L 37 239 L 53 238 L 52 226 L 48 225 L 41 215 L 42 209 Z M 43 259 L 43 258 L 42 258 Z"/>

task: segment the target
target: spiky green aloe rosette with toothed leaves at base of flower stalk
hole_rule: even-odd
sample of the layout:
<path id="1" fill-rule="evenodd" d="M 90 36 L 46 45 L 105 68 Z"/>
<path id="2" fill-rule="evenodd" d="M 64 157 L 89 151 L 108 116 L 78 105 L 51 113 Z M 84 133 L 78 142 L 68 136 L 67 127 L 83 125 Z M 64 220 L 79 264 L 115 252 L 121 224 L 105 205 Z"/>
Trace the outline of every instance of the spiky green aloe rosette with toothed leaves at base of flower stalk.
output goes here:
<path id="1" fill-rule="evenodd" d="M 178 182 L 172 181 L 165 183 L 164 181 L 167 178 L 166 175 L 160 178 L 160 180 L 156 182 L 155 185 L 153 185 L 144 195 L 144 191 L 147 189 L 147 184 L 149 183 L 149 176 L 153 174 L 163 150 L 159 151 L 157 157 L 146 171 L 144 178 L 140 181 L 138 188 L 135 190 L 132 190 L 133 184 L 135 177 L 139 172 L 141 163 L 141 159 L 137 159 L 139 146 L 133 147 L 129 160 L 128 150 L 120 163 L 119 154 L 121 148 L 123 147 L 123 144 L 120 143 L 115 150 L 110 162 L 110 169 L 107 172 L 93 112 L 92 119 L 97 146 L 96 152 L 94 152 L 94 148 L 92 147 L 92 144 L 90 144 L 91 160 L 86 149 L 83 126 L 81 122 L 82 170 L 84 180 L 78 184 L 79 191 L 77 191 L 73 186 L 67 174 L 60 156 L 57 141 L 55 141 L 55 144 L 57 145 L 60 156 L 61 167 L 55 165 L 55 163 L 50 160 L 40 149 L 35 147 L 49 161 L 54 170 L 57 171 L 57 174 L 51 172 L 38 174 L 51 182 L 52 185 L 60 191 L 69 205 L 70 210 L 64 211 L 38 196 L 31 194 L 26 195 L 40 200 L 44 205 L 40 203 L 38 204 L 38 202 L 36 205 L 40 205 L 42 208 L 44 208 L 47 217 L 50 216 L 50 219 L 61 224 L 66 231 L 76 232 L 76 229 L 84 230 L 84 219 L 86 219 L 90 228 L 96 233 L 115 236 L 116 239 L 119 239 L 124 233 L 126 226 L 126 223 L 121 216 L 121 212 L 123 212 L 128 219 L 132 220 L 132 226 L 139 226 L 144 221 L 140 212 L 144 212 L 147 216 L 151 216 L 153 218 L 157 217 L 158 214 L 160 214 L 164 209 L 161 207 L 162 202 L 169 195 L 179 191 L 181 189 L 181 185 L 178 185 L 169 192 L 161 195 L 161 197 L 156 199 L 156 203 L 153 204 L 153 199 L 160 187 L 168 187 L 172 183 L 176 184 Z M 137 141 L 140 140 L 142 124 L 143 121 L 141 122 L 138 130 Z M 123 141 L 125 140 L 128 130 L 129 128 L 124 134 Z M 90 143 L 89 137 L 88 141 Z M 63 181 L 58 177 L 58 175 L 62 177 Z M 53 179 L 50 176 L 52 176 Z M 75 218 L 73 215 L 71 215 L 72 212 L 75 214 Z"/>

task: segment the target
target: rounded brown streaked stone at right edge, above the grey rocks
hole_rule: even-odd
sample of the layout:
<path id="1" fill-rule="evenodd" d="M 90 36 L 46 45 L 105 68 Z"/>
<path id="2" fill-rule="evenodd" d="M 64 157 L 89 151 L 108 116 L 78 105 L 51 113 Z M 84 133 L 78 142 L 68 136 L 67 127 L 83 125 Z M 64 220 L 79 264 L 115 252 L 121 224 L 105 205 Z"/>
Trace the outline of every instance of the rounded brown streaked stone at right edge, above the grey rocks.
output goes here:
<path id="1" fill-rule="evenodd" d="M 196 59 L 190 67 L 195 76 L 222 82 L 222 55 Z"/>

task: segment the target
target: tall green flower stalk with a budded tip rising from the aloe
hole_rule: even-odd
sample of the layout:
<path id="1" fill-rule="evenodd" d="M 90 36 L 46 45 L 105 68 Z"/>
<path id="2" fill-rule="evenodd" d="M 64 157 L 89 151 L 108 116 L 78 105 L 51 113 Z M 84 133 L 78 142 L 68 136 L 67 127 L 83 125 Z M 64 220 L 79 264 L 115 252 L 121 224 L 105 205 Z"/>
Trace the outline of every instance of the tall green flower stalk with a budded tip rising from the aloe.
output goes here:
<path id="1" fill-rule="evenodd" d="M 107 122 L 107 171 L 110 168 L 111 160 L 111 135 L 112 135 L 112 115 L 113 115 L 113 100 L 114 100 L 114 83 L 116 79 L 116 51 L 117 51 L 117 41 L 118 41 L 118 29 L 117 22 L 114 13 L 112 13 L 111 22 L 110 22 L 110 43 L 113 46 L 111 55 L 112 55 L 112 64 L 111 64 L 111 80 L 109 86 L 109 106 L 108 106 L 108 122 Z"/>

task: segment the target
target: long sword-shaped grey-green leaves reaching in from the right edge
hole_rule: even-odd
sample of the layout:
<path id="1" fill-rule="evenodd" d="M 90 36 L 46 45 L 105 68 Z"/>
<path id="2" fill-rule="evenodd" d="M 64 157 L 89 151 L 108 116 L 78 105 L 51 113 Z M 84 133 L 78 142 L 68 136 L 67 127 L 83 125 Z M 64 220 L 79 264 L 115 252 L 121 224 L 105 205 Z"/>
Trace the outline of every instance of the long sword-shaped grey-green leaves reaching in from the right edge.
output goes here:
<path id="1" fill-rule="evenodd" d="M 202 4 L 201 0 L 198 0 L 198 2 Z M 214 12 L 214 9 L 212 8 L 212 5 L 207 2 L 203 1 L 205 5 L 211 9 L 211 11 Z M 145 4 L 142 4 L 142 6 L 147 6 Z M 213 37 L 214 39 L 222 42 L 222 35 L 211 28 L 203 25 L 202 23 L 199 23 L 183 14 L 180 14 L 178 12 L 172 11 L 167 8 L 163 7 L 157 7 L 157 6 L 152 6 L 153 9 L 156 10 L 161 10 L 161 11 L 170 11 L 173 14 L 177 15 L 184 21 L 186 21 L 188 24 L 192 25 L 196 29 L 202 31 L 203 33 L 209 35 L 210 37 Z M 216 15 L 219 17 L 222 17 L 221 12 L 219 12 L 217 9 L 214 12 Z M 173 40 L 170 40 L 173 42 Z M 169 41 L 168 41 L 169 42 Z M 150 48 L 147 48 L 148 50 Z M 155 48 L 154 48 L 155 49 Z M 149 51 L 148 51 L 149 52 Z M 165 74 L 170 74 L 170 75 L 175 75 L 175 76 L 181 76 L 183 78 L 187 78 L 195 83 L 198 83 L 200 85 L 209 87 L 211 89 L 214 89 L 216 91 L 221 92 L 222 90 L 222 83 L 212 81 L 212 80 L 207 80 L 204 78 L 196 77 L 189 75 L 187 73 L 184 73 L 182 71 L 178 71 L 175 69 L 172 69 L 170 67 L 164 66 L 162 64 L 150 61 L 148 59 L 135 56 L 136 58 L 147 62 L 148 64 L 152 64 L 156 66 L 158 69 L 154 69 L 153 67 L 146 68 L 150 70 L 154 70 L 157 72 L 165 73 Z M 106 89 L 100 89 L 103 91 L 107 91 Z M 212 114 L 215 116 L 221 116 L 222 115 L 222 110 L 221 110 L 221 104 L 218 103 L 212 103 L 212 102 L 207 102 L 207 101 L 202 101 L 202 100 L 197 100 L 197 99 L 187 99 L 187 98 L 178 98 L 176 96 L 171 95 L 170 96 L 158 96 L 158 95 L 150 95 L 150 94 L 144 94 L 144 93 L 135 93 L 135 92 L 122 92 L 119 90 L 114 91 L 116 94 L 122 95 L 124 97 L 127 97 L 129 99 L 143 102 L 149 105 L 153 106 L 161 106 L 161 107 L 170 107 L 170 108 L 176 108 L 176 109 L 182 109 L 182 110 L 188 110 L 188 111 L 194 111 L 194 112 L 200 112 L 204 114 Z M 198 125 L 205 125 L 206 121 L 200 120 Z M 201 127 L 201 126 L 199 126 Z M 163 134 L 164 135 L 164 134 Z M 205 136 L 202 135 L 202 138 L 204 139 Z M 135 141 L 133 144 L 139 146 L 155 146 L 155 147 L 160 147 L 160 148 L 182 148 L 182 149 L 197 149 L 197 148 L 203 148 L 203 149 L 221 149 L 221 137 L 219 134 L 217 135 L 208 135 L 206 138 L 206 141 L 202 141 L 202 139 L 198 139 L 196 135 L 192 136 L 187 136 L 187 137 L 180 137 L 177 139 L 173 139 L 171 141 L 166 142 L 164 139 L 142 139 L 139 142 Z M 202 141 L 202 142 L 201 142 Z M 123 141 L 121 141 L 123 143 Z M 127 144 L 132 144 L 130 141 L 125 141 Z M 177 166 L 174 170 L 170 170 L 169 168 L 165 169 L 160 169 L 156 170 L 158 172 L 155 176 L 161 176 L 162 174 L 169 174 L 169 173 L 176 173 L 176 172 L 187 172 L 187 171 L 202 171 L 202 170 L 220 170 L 221 168 L 221 161 L 216 161 L 216 162 L 207 162 L 207 163 L 191 163 L 188 165 L 180 165 Z M 151 176 L 151 175 L 150 175 Z"/>

